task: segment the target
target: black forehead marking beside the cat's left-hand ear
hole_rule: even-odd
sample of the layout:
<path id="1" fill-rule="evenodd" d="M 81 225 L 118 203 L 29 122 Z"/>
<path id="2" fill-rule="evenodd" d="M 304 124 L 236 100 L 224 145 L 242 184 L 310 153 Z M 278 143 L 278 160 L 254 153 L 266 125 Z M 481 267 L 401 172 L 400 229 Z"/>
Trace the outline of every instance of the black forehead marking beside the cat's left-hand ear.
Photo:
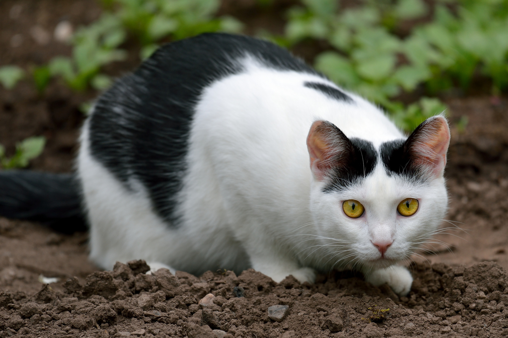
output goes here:
<path id="1" fill-rule="evenodd" d="M 349 142 L 350 149 L 347 149 L 349 154 L 345 156 L 345 161 L 341 165 L 332 168 L 330 180 L 323 189 L 325 193 L 340 191 L 357 183 L 368 176 L 376 166 L 377 152 L 372 142 L 361 138 L 351 138 Z"/>

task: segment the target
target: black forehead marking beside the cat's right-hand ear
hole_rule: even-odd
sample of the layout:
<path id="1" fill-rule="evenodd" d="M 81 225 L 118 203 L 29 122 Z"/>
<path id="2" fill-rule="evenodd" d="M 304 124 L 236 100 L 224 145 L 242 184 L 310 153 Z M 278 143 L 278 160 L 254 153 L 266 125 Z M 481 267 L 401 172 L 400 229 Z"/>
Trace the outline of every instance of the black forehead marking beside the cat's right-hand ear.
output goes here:
<path id="1" fill-rule="evenodd" d="M 411 178 L 420 176 L 419 170 L 412 165 L 406 140 L 398 139 L 381 144 L 379 154 L 388 175 L 399 174 Z"/>

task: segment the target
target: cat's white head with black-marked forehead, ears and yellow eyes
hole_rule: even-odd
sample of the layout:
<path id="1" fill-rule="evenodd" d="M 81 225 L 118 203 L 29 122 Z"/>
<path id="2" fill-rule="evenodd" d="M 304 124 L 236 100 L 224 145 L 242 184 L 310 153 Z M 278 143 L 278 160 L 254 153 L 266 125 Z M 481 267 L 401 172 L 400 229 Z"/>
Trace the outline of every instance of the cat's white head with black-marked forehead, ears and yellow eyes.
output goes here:
<path id="1" fill-rule="evenodd" d="M 307 137 L 311 211 L 324 266 L 386 268 L 430 239 L 447 212 L 450 130 L 441 116 L 378 146 L 315 121 Z"/>

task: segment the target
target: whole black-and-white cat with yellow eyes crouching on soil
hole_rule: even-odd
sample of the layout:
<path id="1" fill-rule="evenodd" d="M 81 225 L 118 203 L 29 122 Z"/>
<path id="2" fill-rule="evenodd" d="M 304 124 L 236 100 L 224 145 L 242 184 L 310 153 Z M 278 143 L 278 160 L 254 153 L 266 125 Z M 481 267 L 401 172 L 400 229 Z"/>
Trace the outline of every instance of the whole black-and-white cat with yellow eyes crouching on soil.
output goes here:
<path id="1" fill-rule="evenodd" d="M 447 212 L 449 141 L 443 116 L 406 137 L 288 51 L 207 33 L 161 47 L 98 98 L 77 183 L 1 173 L 0 214 L 65 221 L 82 202 L 103 269 L 142 258 L 313 282 L 353 268 L 405 295 L 398 262 Z"/>

